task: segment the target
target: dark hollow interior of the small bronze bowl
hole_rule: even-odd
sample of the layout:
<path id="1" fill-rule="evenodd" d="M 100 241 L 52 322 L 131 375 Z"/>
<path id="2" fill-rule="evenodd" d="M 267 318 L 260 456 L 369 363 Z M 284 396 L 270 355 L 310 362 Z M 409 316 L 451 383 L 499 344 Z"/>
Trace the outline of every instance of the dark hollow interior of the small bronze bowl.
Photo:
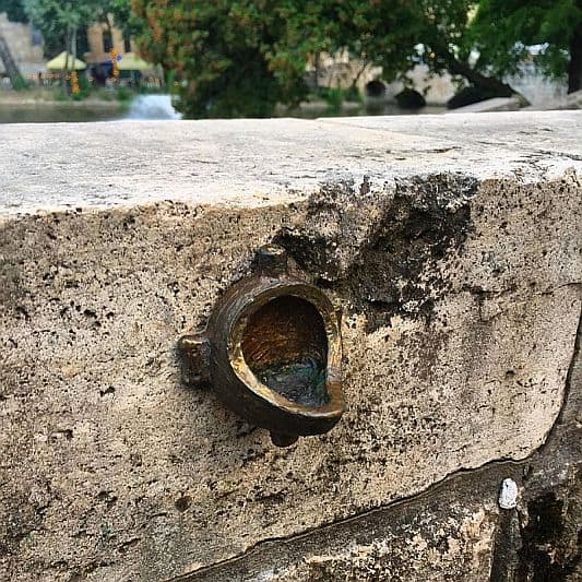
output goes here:
<path id="1" fill-rule="evenodd" d="M 328 337 L 318 310 L 298 297 L 277 297 L 256 311 L 242 336 L 242 355 L 271 390 L 307 406 L 329 402 Z"/>

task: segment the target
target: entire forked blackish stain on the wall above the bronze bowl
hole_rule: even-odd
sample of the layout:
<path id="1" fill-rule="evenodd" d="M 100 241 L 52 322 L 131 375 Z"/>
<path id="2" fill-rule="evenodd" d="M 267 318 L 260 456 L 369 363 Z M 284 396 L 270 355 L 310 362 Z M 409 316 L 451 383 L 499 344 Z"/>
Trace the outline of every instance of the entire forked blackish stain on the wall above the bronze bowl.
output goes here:
<path id="1" fill-rule="evenodd" d="M 308 225 L 276 237 L 302 269 L 328 281 L 326 286 L 346 297 L 355 311 L 367 312 L 368 332 L 387 325 L 394 314 L 430 322 L 436 301 L 449 286 L 437 262 L 461 247 L 472 229 L 475 178 L 438 174 L 397 179 L 395 186 L 391 202 L 378 201 L 381 219 L 349 256 L 347 268 L 341 265 L 341 246 L 349 245 L 349 217 L 341 218 L 341 228 L 329 224 L 340 219 L 341 210 L 333 206 L 345 197 L 332 195 L 329 188 L 313 197 L 308 210 L 308 223 L 319 222 L 320 234 Z M 366 182 L 365 191 L 369 188 Z M 321 234 L 338 230 L 341 239 Z"/>

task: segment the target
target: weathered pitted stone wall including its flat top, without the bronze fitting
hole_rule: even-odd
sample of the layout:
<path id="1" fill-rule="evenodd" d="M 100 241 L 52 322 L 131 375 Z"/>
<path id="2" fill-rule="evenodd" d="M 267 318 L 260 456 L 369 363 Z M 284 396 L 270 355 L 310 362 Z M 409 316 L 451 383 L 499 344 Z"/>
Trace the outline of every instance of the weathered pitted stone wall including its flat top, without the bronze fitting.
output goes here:
<path id="1" fill-rule="evenodd" d="M 0 128 L 0 579 L 573 580 L 581 126 Z M 344 312 L 347 412 L 288 449 L 176 358 L 265 242 Z"/>

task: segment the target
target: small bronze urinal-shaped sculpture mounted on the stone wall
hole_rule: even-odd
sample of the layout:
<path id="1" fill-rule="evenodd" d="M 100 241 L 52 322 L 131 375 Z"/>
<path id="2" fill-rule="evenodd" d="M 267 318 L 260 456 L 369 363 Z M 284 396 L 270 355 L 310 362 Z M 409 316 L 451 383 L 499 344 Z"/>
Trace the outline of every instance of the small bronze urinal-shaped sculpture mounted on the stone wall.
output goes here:
<path id="1" fill-rule="evenodd" d="M 190 383 L 210 383 L 287 447 L 326 432 L 344 411 L 340 314 L 319 288 L 288 274 L 284 249 L 261 249 L 257 263 L 221 297 L 206 330 L 178 347 Z"/>

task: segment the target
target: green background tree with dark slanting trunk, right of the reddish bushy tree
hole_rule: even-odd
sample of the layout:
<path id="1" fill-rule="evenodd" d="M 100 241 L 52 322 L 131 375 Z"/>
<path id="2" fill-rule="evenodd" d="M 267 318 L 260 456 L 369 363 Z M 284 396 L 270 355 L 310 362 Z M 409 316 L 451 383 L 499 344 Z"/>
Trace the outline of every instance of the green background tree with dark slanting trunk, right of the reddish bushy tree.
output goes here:
<path id="1" fill-rule="evenodd" d="M 252 2 L 257 3 L 257 2 Z M 514 90 L 470 63 L 466 44 L 473 0 L 274 1 L 270 13 L 285 22 L 285 36 L 266 51 L 275 71 L 305 66 L 309 54 L 347 49 L 364 63 L 379 64 L 393 80 L 419 61 L 433 72 L 464 78 L 482 93 L 510 96 Z M 294 71 L 296 72 L 296 71 Z"/>

